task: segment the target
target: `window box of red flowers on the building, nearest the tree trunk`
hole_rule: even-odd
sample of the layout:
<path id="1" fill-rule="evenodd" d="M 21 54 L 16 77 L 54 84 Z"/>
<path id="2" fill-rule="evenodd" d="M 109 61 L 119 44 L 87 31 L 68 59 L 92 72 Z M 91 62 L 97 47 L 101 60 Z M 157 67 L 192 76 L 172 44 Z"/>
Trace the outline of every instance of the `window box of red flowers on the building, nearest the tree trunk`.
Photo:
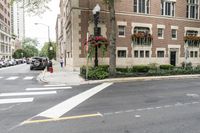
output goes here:
<path id="1" fill-rule="evenodd" d="M 134 45 L 151 45 L 153 36 L 151 34 L 139 32 L 132 35 Z"/>

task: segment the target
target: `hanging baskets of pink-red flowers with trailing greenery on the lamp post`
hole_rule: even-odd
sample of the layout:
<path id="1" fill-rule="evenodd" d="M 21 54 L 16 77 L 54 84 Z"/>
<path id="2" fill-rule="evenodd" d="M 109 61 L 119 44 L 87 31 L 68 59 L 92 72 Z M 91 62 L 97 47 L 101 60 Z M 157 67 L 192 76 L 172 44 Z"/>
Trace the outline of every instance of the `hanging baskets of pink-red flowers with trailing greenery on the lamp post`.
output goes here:
<path id="1" fill-rule="evenodd" d="M 86 51 L 88 51 L 89 58 L 92 58 L 92 56 L 95 54 L 96 46 L 102 50 L 102 55 L 104 57 L 109 45 L 109 41 L 103 36 L 90 35 L 88 41 L 85 41 L 83 45 L 86 47 Z"/>

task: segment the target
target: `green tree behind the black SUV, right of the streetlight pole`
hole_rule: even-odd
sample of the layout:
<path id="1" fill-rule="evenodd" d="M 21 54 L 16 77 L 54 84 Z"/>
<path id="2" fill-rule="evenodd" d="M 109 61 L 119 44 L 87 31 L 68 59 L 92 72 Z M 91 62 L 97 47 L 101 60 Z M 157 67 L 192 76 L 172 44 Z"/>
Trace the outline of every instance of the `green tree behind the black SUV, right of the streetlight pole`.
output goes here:
<path id="1" fill-rule="evenodd" d="M 50 49 L 52 47 L 52 50 Z M 40 51 L 40 56 L 56 59 L 57 44 L 55 42 L 46 42 Z"/>

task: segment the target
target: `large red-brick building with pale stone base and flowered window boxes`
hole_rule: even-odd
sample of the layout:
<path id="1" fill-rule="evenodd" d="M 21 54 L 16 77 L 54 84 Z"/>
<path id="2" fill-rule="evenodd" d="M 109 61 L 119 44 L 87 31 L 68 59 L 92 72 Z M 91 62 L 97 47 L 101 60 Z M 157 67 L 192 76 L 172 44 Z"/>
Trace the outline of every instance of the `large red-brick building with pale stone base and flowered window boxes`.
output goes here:
<path id="1" fill-rule="evenodd" d="M 66 65 L 85 64 L 82 42 L 93 34 L 92 10 L 101 7 L 99 27 L 109 37 L 107 6 L 102 0 L 61 0 L 62 52 Z M 138 64 L 200 65 L 200 0 L 117 0 L 117 66 Z M 108 63 L 108 56 L 99 63 Z"/>

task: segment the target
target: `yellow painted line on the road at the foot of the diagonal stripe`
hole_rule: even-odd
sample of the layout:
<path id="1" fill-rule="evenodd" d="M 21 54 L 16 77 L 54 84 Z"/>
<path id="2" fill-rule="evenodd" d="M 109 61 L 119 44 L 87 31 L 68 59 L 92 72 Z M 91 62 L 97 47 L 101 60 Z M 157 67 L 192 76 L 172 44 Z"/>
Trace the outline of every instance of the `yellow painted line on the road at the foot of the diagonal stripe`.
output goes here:
<path id="1" fill-rule="evenodd" d="M 62 121 L 62 120 L 73 120 L 73 119 L 90 118 L 90 117 L 98 117 L 98 116 L 102 117 L 103 115 L 100 113 L 97 113 L 97 114 L 61 117 L 58 119 L 27 120 L 27 121 L 22 122 L 21 125 L 34 124 L 34 123 L 46 123 L 46 122 L 54 122 L 54 121 Z"/>

